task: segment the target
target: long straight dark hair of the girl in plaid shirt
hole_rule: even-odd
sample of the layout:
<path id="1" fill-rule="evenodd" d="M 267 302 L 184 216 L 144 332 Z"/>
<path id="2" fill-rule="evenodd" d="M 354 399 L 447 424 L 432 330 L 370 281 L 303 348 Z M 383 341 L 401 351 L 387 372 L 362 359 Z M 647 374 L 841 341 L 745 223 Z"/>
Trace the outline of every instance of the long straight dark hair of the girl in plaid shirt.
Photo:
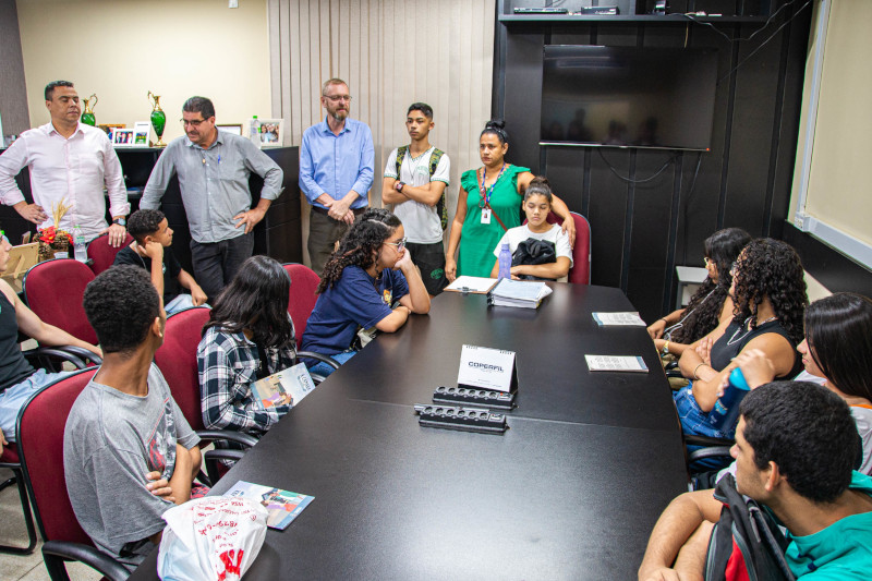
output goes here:
<path id="1" fill-rule="evenodd" d="M 226 332 L 252 331 L 254 343 L 267 347 L 296 346 L 293 322 L 288 316 L 291 278 L 278 261 L 252 256 L 213 303 L 209 327 Z"/>

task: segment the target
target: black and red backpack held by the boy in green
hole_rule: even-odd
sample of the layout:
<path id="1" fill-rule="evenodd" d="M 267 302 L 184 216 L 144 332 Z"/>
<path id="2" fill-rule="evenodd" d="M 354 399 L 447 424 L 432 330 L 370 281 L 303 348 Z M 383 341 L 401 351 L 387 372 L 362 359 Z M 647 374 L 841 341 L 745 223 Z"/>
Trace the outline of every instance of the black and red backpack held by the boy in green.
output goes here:
<path id="1" fill-rule="evenodd" d="M 724 508 L 708 540 L 705 581 L 795 581 L 784 556 L 787 538 L 768 511 L 736 491 L 732 474 L 717 483 L 715 498 Z"/>

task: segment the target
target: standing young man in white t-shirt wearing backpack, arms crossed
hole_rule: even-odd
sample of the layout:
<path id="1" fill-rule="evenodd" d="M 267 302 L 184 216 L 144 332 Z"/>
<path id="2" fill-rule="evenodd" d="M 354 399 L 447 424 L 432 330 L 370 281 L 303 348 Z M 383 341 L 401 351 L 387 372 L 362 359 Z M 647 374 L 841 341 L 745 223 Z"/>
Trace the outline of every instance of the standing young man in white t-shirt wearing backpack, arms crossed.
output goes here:
<path id="1" fill-rule="evenodd" d="M 412 143 L 390 153 L 382 180 L 382 203 L 393 204 L 393 214 L 402 221 L 409 239 L 405 247 L 421 269 L 431 298 L 448 286 L 443 211 L 451 171 L 448 156 L 427 140 L 435 125 L 429 105 L 414 102 L 409 107 L 405 131 Z"/>

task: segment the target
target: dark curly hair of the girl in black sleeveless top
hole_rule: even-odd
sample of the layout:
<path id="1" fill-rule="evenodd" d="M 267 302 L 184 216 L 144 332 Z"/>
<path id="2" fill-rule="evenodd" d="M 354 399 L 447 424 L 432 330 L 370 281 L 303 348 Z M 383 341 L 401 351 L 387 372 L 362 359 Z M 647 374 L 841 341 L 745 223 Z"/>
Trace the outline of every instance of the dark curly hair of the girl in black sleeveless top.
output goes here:
<path id="1" fill-rule="evenodd" d="M 768 296 L 775 316 L 794 344 L 802 342 L 802 317 L 809 298 L 799 255 L 790 244 L 771 238 L 751 241 L 739 254 L 734 274 L 736 282 L 732 315 L 751 317 L 756 328 L 760 304 Z"/>

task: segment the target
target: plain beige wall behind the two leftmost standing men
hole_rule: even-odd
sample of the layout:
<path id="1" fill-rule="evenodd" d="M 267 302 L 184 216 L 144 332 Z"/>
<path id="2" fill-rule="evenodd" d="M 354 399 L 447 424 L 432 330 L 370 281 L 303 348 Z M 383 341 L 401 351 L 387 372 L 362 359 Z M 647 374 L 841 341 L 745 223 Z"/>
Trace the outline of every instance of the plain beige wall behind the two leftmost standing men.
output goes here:
<path id="1" fill-rule="evenodd" d="M 147 121 L 160 95 L 167 137 L 187 97 L 215 102 L 218 123 L 270 114 L 266 0 L 25 0 L 19 25 L 33 126 L 48 122 L 43 90 L 58 78 L 96 93 L 97 123 Z"/>

